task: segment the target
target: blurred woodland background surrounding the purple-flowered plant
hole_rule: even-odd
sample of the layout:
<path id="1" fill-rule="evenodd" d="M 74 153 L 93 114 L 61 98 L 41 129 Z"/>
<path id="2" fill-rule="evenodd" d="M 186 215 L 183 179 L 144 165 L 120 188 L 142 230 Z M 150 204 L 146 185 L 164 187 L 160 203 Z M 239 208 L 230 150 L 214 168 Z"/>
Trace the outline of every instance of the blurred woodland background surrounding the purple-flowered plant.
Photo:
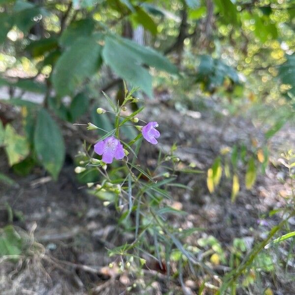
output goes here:
<path id="1" fill-rule="evenodd" d="M 294 294 L 294 29 L 294 0 L 0 0 L 1 294 Z M 188 213 L 165 213 L 183 244 L 144 236 L 156 263 L 130 271 L 105 248 L 132 222 L 87 192 L 97 171 L 74 174 L 104 133 L 73 124 L 110 131 L 96 109 L 123 81 L 126 114 L 160 125 L 141 167 L 170 156 L 179 185 L 159 187 Z"/>

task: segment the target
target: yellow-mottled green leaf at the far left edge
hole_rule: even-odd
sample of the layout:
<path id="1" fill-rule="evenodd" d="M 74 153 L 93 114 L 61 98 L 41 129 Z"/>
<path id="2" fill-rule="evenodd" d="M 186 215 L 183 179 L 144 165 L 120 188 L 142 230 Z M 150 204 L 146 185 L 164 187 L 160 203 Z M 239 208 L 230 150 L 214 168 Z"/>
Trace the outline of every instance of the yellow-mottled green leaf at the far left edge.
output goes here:
<path id="1" fill-rule="evenodd" d="M 26 137 L 17 134 L 10 124 L 5 126 L 4 147 L 10 166 L 21 162 L 29 154 L 29 143 Z"/>

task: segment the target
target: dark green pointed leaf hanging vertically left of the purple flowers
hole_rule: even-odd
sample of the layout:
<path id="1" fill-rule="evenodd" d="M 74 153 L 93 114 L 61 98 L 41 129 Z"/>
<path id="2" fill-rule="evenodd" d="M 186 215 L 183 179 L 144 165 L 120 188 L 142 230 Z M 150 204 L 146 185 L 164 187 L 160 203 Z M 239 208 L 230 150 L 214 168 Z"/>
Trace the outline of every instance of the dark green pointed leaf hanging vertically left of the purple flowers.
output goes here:
<path id="1" fill-rule="evenodd" d="M 65 156 L 64 142 L 59 126 L 45 109 L 37 116 L 34 148 L 41 165 L 57 179 Z"/>

